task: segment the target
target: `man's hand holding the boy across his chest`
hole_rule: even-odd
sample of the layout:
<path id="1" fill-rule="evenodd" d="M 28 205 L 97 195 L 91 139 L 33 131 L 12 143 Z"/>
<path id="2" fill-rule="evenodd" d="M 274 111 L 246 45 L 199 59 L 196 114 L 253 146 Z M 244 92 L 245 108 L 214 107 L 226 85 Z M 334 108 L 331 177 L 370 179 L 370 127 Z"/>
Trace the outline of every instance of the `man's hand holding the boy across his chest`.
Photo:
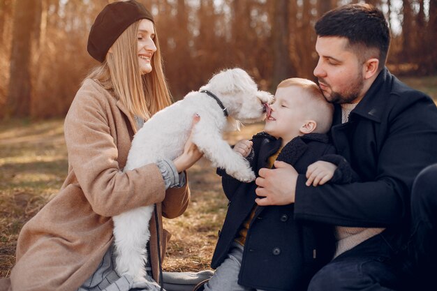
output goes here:
<path id="1" fill-rule="evenodd" d="M 260 177 L 256 178 L 258 185 L 255 193 L 260 196 L 255 202 L 260 206 L 286 205 L 295 202 L 297 172 L 292 165 L 276 161 L 276 169 L 263 167 L 259 171 Z"/>

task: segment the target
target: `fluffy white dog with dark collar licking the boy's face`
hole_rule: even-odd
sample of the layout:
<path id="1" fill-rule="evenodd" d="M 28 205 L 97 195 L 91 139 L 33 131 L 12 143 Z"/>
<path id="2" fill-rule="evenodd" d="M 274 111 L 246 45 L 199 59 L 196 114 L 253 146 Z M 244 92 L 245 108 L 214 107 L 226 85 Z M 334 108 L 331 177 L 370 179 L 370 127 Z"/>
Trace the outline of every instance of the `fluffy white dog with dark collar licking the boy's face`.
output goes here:
<path id="1" fill-rule="evenodd" d="M 263 103 L 272 103 L 272 100 L 271 94 L 258 91 L 244 70 L 223 70 L 200 91 L 192 91 L 183 100 L 157 112 L 138 130 L 124 171 L 156 163 L 161 158 L 172 161 L 180 156 L 191 133 L 193 116 L 199 114 L 200 121 L 193 128 L 193 143 L 214 167 L 225 169 L 240 181 L 253 181 L 255 174 L 249 163 L 232 151 L 222 133 L 225 128 L 238 129 L 239 121 L 262 120 Z M 225 116 L 227 113 L 229 117 Z M 149 220 L 153 210 L 154 206 L 149 205 L 113 217 L 116 271 L 119 275 L 130 275 L 134 281 L 145 280 L 145 246 L 150 237 Z"/>

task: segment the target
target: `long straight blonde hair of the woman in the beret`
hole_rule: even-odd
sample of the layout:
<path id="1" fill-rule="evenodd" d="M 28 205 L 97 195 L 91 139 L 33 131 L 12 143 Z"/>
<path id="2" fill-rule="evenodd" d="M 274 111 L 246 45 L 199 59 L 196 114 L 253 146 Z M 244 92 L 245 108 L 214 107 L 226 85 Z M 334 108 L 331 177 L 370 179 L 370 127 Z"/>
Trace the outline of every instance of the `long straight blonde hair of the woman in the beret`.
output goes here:
<path id="1" fill-rule="evenodd" d="M 137 35 L 140 20 L 131 24 L 115 40 L 105 61 L 96 66 L 87 78 L 100 82 L 105 89 L 113 90 L 133 116 L 149 119 L 172 103 L 168 84 L 163 73 L 161 50 L 155 31 L 156 52 L 151 58 L 153 70 L 141 75 L 138 64 Z"/>

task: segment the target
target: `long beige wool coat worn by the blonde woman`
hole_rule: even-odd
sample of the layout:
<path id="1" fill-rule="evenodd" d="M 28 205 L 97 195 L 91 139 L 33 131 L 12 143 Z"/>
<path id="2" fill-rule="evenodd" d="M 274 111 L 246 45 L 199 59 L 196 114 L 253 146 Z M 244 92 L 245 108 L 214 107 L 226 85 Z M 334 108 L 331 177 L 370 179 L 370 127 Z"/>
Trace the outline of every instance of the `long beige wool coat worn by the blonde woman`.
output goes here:
<path id="1" fill-rule="evenodd" d="M 155 164 L 121 172 L 135 121 L 100 84 L 86 80 L 65 120 L 68 177 L 61 191 L 24 225 L 17 263 L 0 290 L 76 290 L 94 273 L 112 243 L 111 216 L 157 203 L 161 214 L 180 216 L 188 186 L 165 191 Z M 156 223 L 151 220 L 151 264 L 158 280 Z M 169 236 L 161 228 L 162 252 Z"/>

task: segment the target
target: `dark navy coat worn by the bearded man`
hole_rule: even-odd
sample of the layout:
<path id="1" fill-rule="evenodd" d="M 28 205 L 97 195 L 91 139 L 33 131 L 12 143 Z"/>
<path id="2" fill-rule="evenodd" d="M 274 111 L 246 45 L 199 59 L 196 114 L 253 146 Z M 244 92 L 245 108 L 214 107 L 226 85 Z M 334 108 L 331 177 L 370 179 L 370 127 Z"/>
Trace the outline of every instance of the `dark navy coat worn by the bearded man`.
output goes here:
<path id="1" fill-rule="evenodd" d="M 299 175 L 295 218 L 350 227 L 387 227 L 396 251 L 408 237 L 410 191 L 427 165 L 437 163 L 437 109 L 425 94 L 382 70 L 341 124 L 336 106 L 332 140 L 361 182 L 306 187 Z M 376 250 L 377 251 L 377 250 Z"/>

